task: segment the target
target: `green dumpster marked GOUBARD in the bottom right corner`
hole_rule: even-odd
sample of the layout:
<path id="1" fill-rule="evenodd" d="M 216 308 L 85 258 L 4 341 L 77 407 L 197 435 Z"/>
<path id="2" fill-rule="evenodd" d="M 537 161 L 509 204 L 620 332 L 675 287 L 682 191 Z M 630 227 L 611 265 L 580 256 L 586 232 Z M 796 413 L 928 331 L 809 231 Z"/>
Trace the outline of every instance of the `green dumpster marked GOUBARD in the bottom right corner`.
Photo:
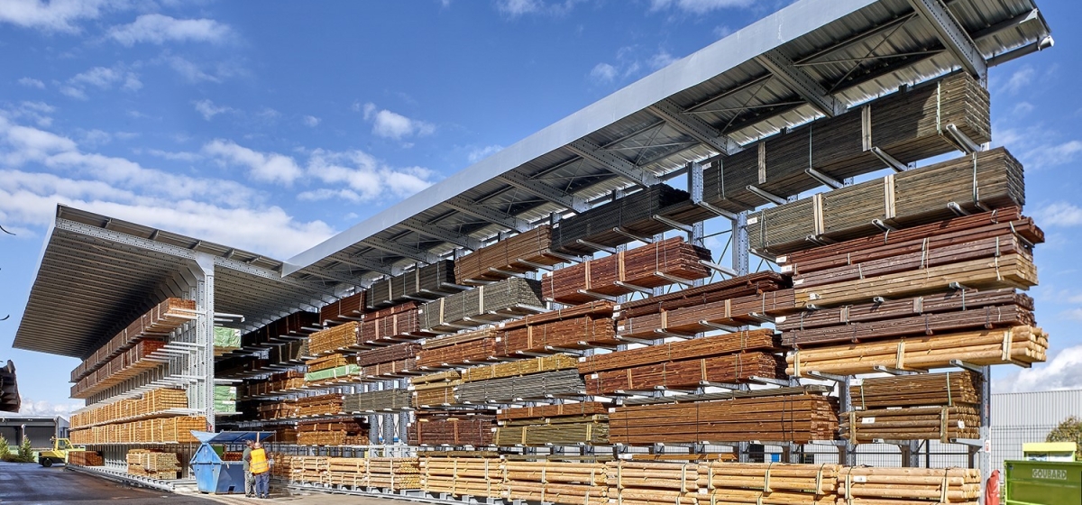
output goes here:
<path id="1" fill-rule="evenodd" d="M 1082 505 L 1082 462 L 1006 461 L 1006 505 Z"/>

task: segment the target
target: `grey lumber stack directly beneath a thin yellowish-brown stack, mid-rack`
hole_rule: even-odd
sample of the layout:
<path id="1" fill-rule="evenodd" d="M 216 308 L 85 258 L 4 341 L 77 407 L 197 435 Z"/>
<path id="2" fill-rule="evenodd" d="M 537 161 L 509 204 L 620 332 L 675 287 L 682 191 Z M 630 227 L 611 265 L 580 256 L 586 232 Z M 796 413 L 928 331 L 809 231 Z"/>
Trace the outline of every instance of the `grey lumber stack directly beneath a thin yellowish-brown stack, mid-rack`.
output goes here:
<path id="1" fill-rule="evenodd" d="M 456 398 L 459 402 L 510 402 L 525 398 L 551 398 L 559 395 L 581 395 L 585 384 L 578 370 L 557 370 L 518 377 L 493 378 L 462 383 Z"/>

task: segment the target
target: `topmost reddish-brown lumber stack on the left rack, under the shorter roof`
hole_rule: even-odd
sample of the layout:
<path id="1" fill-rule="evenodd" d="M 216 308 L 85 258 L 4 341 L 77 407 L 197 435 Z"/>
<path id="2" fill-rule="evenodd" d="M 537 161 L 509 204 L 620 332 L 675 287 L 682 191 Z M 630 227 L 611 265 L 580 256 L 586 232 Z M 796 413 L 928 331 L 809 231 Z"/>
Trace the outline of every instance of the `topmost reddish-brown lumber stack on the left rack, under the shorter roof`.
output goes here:
<path id="1" fill-rule="evenodd" d="M 102 344 L 94 354 L 84 359 L 71 371 L 71 382 L 79 382 L 91 372 L 102 368 L 121 351 L 130 349 L 143 338 L 164 338 L 181 328 L 184 323 L 195 320 L 196 302 L 194 300 L 166 298 L 127 328 L 117 333 L 108 342 Z"/>

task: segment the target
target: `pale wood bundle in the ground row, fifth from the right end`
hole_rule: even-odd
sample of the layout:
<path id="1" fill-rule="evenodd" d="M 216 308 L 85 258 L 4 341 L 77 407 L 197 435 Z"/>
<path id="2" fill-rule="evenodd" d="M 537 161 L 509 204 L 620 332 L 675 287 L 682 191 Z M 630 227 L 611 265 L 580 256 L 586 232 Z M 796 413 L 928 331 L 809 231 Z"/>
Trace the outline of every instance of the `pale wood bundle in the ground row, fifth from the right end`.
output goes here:
<path id="1" fill-rule="evenodd" d="M 421 457 L 421 489 L 454 496 L 503 495 L 503 463 L 497 457 Z"/>

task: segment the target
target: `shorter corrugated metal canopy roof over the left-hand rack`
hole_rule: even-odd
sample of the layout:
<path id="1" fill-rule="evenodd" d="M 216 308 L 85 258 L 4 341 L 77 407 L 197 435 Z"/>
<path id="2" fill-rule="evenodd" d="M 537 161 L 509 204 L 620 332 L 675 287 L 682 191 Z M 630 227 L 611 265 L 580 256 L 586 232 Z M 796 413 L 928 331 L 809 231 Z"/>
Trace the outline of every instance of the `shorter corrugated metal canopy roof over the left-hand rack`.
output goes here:
<path id="1" fill-rule="evenodd" d="M 281 277 L 280 262 L 57 205 L 14 347 L 84 358 L 146 310 L 187 294 L 183 273 L 213 260 L 214 309 L 254 329 L 332 300 L 321 283 Z"/>

